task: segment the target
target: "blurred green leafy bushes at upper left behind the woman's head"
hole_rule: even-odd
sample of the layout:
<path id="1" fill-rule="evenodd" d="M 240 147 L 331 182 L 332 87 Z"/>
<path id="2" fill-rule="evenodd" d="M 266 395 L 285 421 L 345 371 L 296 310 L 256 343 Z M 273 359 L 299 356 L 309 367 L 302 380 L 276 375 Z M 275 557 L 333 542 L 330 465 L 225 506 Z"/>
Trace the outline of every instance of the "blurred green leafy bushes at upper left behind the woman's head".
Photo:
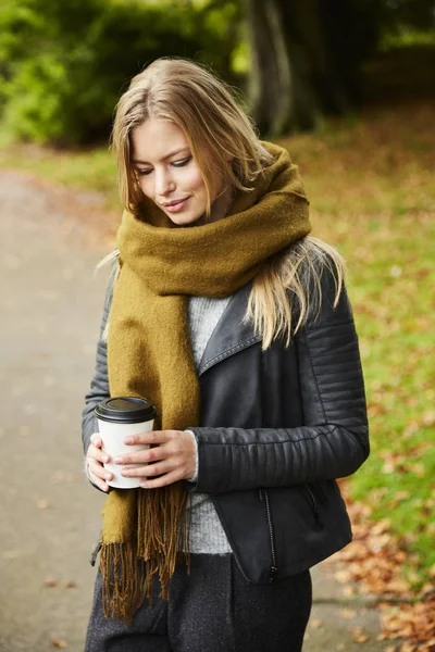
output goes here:
<path id="1" fill-rule="evenodd" d="M 0 4 L 0 106 L 22 139 L 74 145 L 107 139 L 113 108 L 150 61 L 181 55 L 228 76 L 224 24 L 237 3 L 194 10 L 104 0 Z"/>

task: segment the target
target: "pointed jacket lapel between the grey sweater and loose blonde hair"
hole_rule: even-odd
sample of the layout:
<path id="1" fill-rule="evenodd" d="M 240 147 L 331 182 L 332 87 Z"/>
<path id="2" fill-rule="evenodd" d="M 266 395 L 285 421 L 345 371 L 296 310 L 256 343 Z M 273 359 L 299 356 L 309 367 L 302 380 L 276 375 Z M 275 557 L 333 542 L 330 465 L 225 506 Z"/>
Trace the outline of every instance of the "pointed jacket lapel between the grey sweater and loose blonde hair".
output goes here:
<path id="1" fill-rule="evenodd" d="M 249 283 L 240 288 L 225 308 L 202 354 L 199 376 L 225 358 L 261 341 L 261 335 L 256 335 L 252 324 L 243 322 L 251 287 Z"/>

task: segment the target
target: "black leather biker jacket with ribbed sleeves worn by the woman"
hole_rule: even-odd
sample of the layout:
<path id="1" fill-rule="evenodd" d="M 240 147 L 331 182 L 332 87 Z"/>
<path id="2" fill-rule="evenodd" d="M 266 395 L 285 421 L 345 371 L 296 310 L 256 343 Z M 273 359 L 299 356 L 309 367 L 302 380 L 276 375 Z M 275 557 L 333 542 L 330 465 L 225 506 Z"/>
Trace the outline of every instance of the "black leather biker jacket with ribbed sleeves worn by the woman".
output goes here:
<path id="1" fill-rule="evenodd" d="M 334 283 L 289 348 L 244 323 L 250 284 L 236 292 L 199 368 L 199 471 L 192 491 L 210 493 L 238 565 L 266 584 L 311 567 L 351 540 L 335 478 L 369 455 L 364 386 L 346 291 L 334 310 Z M 107 296 L 101 331 L 111 296 Z M 84 449 L 96 428 L 94 408 L 109 396 L 105 344 L 86 396 Z"/>

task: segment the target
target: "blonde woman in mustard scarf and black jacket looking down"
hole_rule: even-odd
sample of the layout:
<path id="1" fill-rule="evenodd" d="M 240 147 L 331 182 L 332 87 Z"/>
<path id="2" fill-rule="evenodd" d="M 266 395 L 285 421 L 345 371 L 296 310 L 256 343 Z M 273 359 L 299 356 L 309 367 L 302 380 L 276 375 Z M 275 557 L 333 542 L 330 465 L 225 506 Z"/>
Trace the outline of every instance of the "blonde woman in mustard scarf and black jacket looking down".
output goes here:
<path id="1" fill-rule="evenodd" d="M 351 539 L 335 478 L 369 454 L 343 262 L 308 236 L 288 153 L 260 142 L 225 85 L 161 59 L 113 128 L 125 206 L 83 438 L 94 409 L 142 396 L 149 450 L 115 459 L 87 650 L 299 651 L 309 568 Z"/>

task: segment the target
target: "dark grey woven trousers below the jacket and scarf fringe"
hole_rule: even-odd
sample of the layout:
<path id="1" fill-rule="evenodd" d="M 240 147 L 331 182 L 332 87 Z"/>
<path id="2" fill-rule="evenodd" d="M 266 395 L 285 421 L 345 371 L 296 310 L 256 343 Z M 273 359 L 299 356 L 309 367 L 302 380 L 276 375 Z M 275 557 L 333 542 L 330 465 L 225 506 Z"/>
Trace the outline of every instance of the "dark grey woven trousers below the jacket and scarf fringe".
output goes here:
<path id="1" fill-rule="evenodd" d="M 104 618 L 98 572 L 86 652 L 300 652 L 310 616 L 311 576 L 252 585 L 232 554 L 191 554 L 179 566 L 170 599 L 144 604 L 130 626 Z"/>

